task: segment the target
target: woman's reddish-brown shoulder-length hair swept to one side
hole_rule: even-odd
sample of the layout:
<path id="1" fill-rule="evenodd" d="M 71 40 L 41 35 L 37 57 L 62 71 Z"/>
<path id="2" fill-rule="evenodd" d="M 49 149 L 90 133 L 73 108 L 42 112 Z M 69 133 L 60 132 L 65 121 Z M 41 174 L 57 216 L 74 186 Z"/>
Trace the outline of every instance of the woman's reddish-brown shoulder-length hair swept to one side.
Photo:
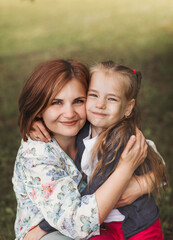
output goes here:
<path id="1" fill-rule="evenodd" d="M 89 70 L 75 60 L 51 60 L 38 66 L 27 80 L 19 98 L 19 126 L 24 141 L 34 121 L 51 103 L 57 93 L 72 79 L 79 80 L 86 88 Z"/>

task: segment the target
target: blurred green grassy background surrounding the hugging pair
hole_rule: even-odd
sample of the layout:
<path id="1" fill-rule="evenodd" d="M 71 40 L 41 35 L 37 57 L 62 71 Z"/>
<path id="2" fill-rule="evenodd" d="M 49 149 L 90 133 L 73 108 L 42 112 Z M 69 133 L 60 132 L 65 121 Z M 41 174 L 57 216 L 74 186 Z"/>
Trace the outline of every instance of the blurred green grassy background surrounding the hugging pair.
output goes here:
<path id="1" fill-rule="evenodd" d="M 18 97 L 33 68 L 54 58 L 88 66 L 112 59 L 143 73 L 143 132 L 169 172 L 170 186 L 158 204 L 165 239 L 172 240 L 172 0 L 0 0 L 0 239 L 14 239 Z"/>

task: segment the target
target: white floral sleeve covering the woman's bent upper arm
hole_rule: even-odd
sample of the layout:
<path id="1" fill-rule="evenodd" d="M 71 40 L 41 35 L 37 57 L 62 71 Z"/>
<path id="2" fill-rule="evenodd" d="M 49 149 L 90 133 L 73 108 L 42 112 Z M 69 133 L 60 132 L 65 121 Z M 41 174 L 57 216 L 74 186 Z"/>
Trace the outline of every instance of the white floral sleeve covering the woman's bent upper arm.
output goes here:
<path id="1" fill-rule="evenodd" d="M 62 234 L 73 239 L 99 234 L 99 213 L 95 195 L 80 195 L 74 164 L 57 156 L 49 148 L 37 154 L 38 148 L 19 157 L 25 174 L 30 200 L 45 220 Z M 43 157 L 44 156 L 44 157 Z"/>

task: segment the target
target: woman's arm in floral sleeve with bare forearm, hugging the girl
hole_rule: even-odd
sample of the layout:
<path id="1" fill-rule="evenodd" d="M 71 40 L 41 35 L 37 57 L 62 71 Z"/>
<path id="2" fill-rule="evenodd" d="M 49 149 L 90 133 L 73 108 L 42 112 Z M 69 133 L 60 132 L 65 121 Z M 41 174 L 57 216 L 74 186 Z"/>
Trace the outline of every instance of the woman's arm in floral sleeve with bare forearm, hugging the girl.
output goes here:
<path id="1" fill-rule="evenodd" d="M 144 161 L 145 152 L 145 141 L 142 139 L 142 135 L 138 133 L 136 138 L 133 136 L 128 142 L 117 169 L 110 178 L 94 195 L 83 197 L 80 197 L 77 184 L 67 172 L 63 171 L 61 164 L 56 171 L 61 173 L 63 177 L 52 182 L 52 176 L 47 174 L 52 171 L 52 166 L 40 165 L 40 161 L 37 165 L 35 159 L 34 169 L 28 171 L 25 169 L 25 174 L 28 176 L 28 183 L 26 182 L 28 195 L 34 204 L 39 207 L 44 218 L 64 235 L 72 238 L 84 238 L 88 237 L 91 232 L 98 234 L 98 214 L 100 223 L 102 223 L 122 195 L 134 170 Z M 30 159 L 30 161 L 33 160 Z M 61 169 L 59 169 L 60 166 Z M 31 179 L 35 178 L 39 178 L 39 181 L 31 182 Z M 119 184 L 116 184 L 115 188 L 117 182 Z M 50 191 L 47 191 L 47 187 L 44 188 L 44 186 L 51 187 L 50 195 Z M 88 226 L 87 229 L 86 226 Z"/>

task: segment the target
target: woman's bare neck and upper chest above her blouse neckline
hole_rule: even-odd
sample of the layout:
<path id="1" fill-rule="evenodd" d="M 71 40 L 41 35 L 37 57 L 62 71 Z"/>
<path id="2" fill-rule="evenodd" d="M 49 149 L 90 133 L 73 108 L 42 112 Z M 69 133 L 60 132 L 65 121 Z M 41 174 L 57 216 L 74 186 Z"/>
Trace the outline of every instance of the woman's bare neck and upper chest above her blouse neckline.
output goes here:
<path id="1" fill-rule="evenodd" d="M 54 136 L 63 151 L 74 161 L 77 153 L 76 137 Z"/>

